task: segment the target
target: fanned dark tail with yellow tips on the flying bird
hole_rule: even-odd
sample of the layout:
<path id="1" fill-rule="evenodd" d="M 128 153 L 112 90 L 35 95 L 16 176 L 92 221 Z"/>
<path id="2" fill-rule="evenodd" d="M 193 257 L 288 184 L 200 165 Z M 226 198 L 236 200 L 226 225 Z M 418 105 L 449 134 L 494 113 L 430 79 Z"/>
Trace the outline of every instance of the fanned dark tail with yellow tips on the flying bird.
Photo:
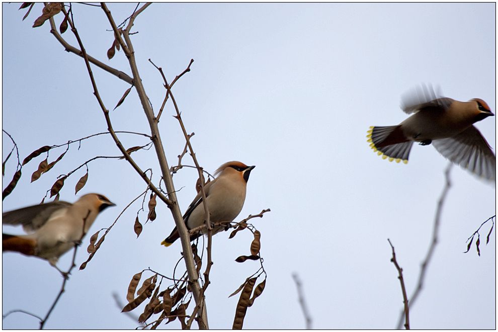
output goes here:
<path id="1" fill-rule="evenodd" d="M 367 131 L 367 142 L 370 142 L 370 147 L 382 155 L 382 158 L 389 158 L 389 161 L 395 160 L 403 163 L 408 162 L 408 155 L 410 154 L 413 141 L 407 139 L 400 126 L 388 127 L 370 127 Z"/>

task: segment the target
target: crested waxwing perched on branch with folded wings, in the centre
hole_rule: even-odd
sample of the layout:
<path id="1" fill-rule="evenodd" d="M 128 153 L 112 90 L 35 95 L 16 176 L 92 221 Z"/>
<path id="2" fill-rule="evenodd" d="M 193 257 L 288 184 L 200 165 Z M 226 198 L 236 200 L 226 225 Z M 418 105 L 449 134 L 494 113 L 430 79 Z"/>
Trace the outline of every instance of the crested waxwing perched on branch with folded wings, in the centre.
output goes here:
<path id="1" fill-rule="evenodd" d="M 246 166 L 239 161 L 229 161 L 222 164 L 214 173 L 219 177 L 204 186 L 206 203 L 210 213 L 211 222 L 232 221 L 242 210 L 245 201 L 245 187 L 251 171 L 256 166 Z M 201 226 L 205 222 L 202 192 L 199 192 L 183 216 L 183 220 L 190 230 Z M 223 230 L 223 227 L 213 228 L 213 234 Z M 193 234 L 190 240 L 198 238 L 201 233 Z M 180 237 L 177 227 L 173 229 L 161 244 L 170 246 Z"/>

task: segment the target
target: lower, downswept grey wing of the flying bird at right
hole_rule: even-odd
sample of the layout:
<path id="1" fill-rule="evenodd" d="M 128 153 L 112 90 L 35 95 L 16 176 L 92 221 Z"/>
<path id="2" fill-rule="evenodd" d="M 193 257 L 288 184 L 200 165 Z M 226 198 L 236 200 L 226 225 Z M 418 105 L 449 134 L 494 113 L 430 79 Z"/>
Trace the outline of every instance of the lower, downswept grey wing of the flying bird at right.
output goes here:
<path id="1" fill-rule="evenodd" d="M 496 179 L 496 156 L 479 130 L 470 126 L 458 135 L 432 144 L 446 158 L 487 180 Z"/>

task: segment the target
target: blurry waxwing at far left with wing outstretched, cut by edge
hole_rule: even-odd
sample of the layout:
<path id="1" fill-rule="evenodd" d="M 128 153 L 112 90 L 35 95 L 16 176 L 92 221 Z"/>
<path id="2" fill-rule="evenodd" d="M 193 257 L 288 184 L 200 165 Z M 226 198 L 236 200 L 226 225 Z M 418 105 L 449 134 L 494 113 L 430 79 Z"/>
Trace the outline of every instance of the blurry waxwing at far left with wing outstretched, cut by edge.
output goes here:
<path id="1" fill-rule="evenodd" d="M 23 225 L 27 235 L 2 233 L 2 252 L 19 252 L 57 260 L 88 232 L 97 215 L 116 204 L 99 194 L 81 196 L 76 202 L 55 201 L 2 213 L 2 224 Z"/>

